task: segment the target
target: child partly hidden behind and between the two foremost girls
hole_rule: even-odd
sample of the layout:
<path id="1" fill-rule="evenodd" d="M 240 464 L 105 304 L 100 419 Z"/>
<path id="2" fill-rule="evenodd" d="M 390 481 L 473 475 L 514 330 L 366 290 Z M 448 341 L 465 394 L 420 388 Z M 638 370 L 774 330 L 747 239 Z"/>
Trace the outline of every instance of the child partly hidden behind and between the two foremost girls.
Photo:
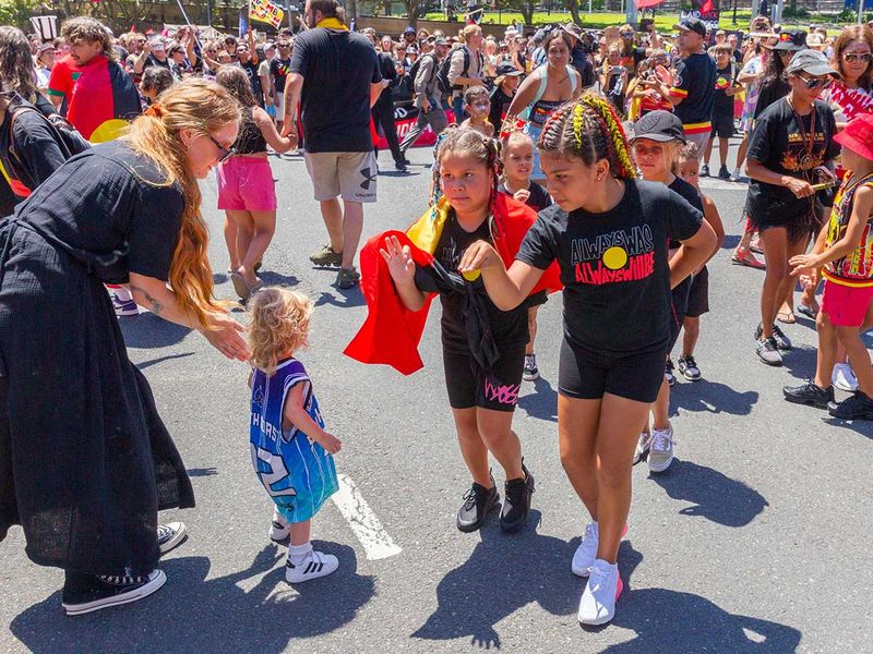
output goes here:
<path id="1" fill-rule="evenodd" d="M 530 181 L 533 170 L 534 141 L 527 134 L 512 132 L 503 146 L 503 183 L 498 186 L 498 191 L 525 203 L 535 211 L 540 211 L 552 206 L 552 198 L 546 189 Z M 537 338 L 537 312 L 547 301 L 546 293 L 537 293 L 528 302 L 527 330 L 530 332 L 530 340 L 525 348 L 525 382 L 539 379 L 534 341 Z"/>

